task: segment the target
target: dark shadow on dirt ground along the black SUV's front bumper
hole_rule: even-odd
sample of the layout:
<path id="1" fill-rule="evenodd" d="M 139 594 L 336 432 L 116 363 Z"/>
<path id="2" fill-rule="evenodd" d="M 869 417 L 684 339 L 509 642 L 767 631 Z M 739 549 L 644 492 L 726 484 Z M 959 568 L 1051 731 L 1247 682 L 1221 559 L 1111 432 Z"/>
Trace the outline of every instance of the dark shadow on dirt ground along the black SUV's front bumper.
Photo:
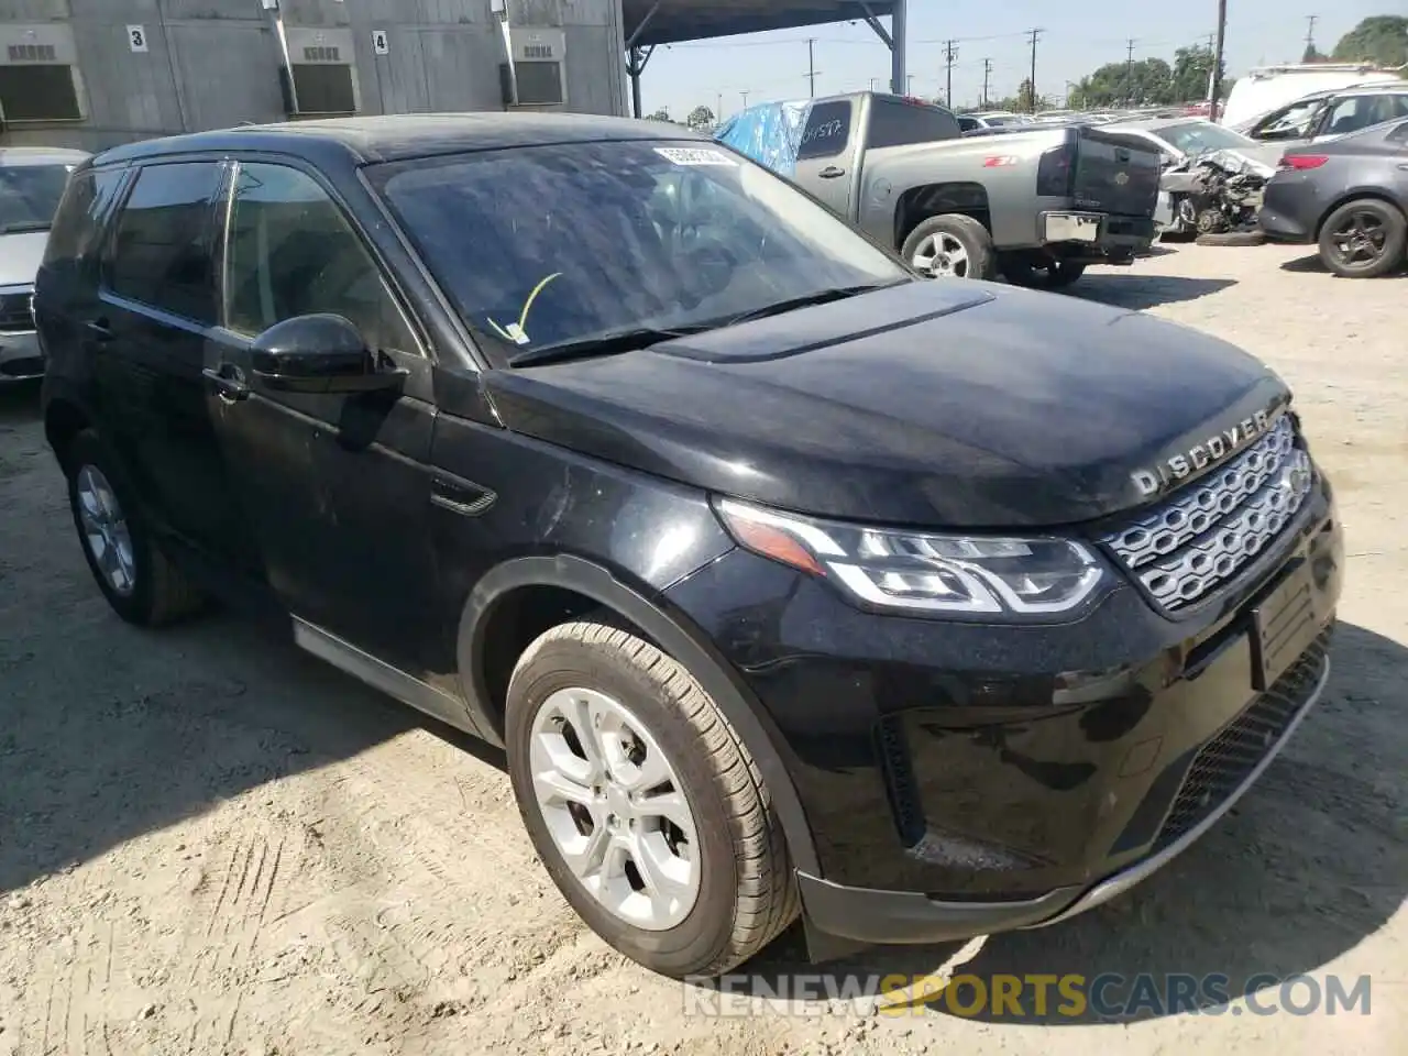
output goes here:
<path id="1" fill-rule="evenodd" d="M 1226 977 L 1217 983 L 1221 993 L 1233 998 L 1253 993 L 1262 1007 L 1270 1007 L 1280 993 L 1273 977 L 1316 973 L 1383 928 L 1408 891 L 1408 770 L 1402 766 L 1408 758 L 1408 649 L 1342 622 L 1332 663 L 1331 683 L 1315 711 L 1211 832 L 1100 910 L 1050 928 L 990 936 L 976 956 L 949 969 L 955 979 L 970 979 L 952 994 L 925 1001 L 926 1011 L 1001 1024 L 1128 1024 L 1225 1008 L 1217 991 L 1184 991 L 1178 1004 L 1174 990 L 1169 1001 L 1170 976 L 1191 977 L 1201 988 L 1218 974 Z M 873 948 L 811 966 L 800 929 L 793 929 L 746 972 L 763 984 L 762 993 L 776 986 L 779 974 L 821 973 L 829 979 L 822 995 L 845 994 L 848 976 L 924 976 L 959 950 L 959 943 Z M 1135 1010 L 1126 1002 L 1140 973 L 1152 976 L 1155 990 Z M 1100 976 L 1122 979 L 1104 988 L 1098 1012 L 1090 1005 L 1077 1011 L 1053 981 L 1045 1008 L 1036 1007 L 1033 987 L 1024 983 L 1018 1007 L 1008 1002 L 1001 1015 L 993 1014 L 995 977 L 1043 974 L 1074 974 L 1087 983 Z M 986 1001 L 977 1000 L 972 977 L 986 987 Z M 1342 980 L 1343 993 L 1354 984 Z M 1297 1000 L 1305 1001 L 1305 984 L 1297 986 Z"/>

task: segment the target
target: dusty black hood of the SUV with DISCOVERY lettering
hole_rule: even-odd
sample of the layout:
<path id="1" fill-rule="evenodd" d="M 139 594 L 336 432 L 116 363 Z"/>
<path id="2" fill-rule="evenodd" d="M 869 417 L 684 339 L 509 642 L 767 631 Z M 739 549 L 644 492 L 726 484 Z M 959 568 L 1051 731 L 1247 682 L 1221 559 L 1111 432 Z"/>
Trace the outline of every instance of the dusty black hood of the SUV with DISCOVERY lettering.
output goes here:
<path id="1" fill-rule="evenodd" d="M 970 280 L 486 384 L 510 429 L 576 452 L 788 510 L 934 527 L 1138 505 L 1136 473 L 1288 398 L 1217 338 Z"/>

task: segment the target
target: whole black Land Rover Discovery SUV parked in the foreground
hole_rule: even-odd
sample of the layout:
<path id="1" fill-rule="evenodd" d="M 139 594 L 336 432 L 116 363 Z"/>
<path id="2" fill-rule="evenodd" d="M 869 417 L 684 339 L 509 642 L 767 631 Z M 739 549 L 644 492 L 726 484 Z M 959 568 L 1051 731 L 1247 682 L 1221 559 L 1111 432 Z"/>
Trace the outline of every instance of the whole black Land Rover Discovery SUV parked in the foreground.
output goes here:
<path id="1" fill-rule="evenodd" d="M 214 597 L 508 755 L 608 942 L 1048 924 L 1319 694 L 1331 489 L 1209 337 L 929 282 L 660 125 L 239 128 L 79 168 L 48 438 L 135 624 Z"/>

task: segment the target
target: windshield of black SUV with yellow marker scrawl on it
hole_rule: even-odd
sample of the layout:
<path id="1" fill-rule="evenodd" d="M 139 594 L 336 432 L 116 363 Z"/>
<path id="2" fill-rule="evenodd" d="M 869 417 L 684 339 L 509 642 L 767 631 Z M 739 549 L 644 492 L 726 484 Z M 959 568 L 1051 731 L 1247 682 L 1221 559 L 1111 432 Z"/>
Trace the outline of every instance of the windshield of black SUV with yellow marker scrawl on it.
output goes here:
<path id="1" fill-rule="evenodd" d="M 484 151 L 372 179 L 500 360 L 911 277 L 783 179 L 698 141 Z"/>

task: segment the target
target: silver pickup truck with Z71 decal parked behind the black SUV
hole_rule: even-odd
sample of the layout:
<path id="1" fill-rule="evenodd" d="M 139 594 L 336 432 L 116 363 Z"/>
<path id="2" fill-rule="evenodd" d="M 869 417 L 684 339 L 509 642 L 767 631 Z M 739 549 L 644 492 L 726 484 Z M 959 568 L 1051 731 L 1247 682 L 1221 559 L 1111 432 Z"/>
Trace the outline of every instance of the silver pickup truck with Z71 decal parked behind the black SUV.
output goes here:
<path id="1" fill-rule="evenodd" d="M 919 272 L 1050 289 L 1149 248 L 1159 175 L 1098 128 L 963 138 L 942 107 L 862 92 L 811 104 L 791 179 Z"/>

